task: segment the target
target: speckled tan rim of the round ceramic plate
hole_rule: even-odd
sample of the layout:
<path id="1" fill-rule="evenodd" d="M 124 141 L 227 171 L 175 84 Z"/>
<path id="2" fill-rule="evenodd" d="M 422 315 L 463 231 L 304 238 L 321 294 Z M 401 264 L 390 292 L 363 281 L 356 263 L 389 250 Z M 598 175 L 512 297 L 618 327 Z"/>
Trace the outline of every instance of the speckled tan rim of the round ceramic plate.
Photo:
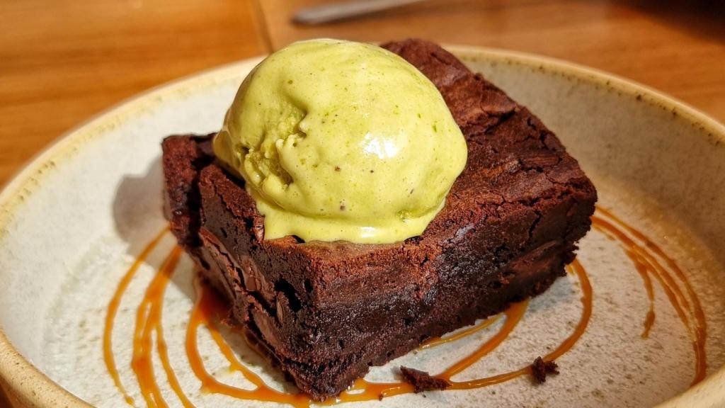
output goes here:
<path id="1" fill-rule="evenodd" d="M 625 78 L 563 60 L 541 57 L 523 52 L 511 52 L 476 46 L 446 45 L 463 61 L 494 60 L 502 64 L 524 65 L 555 76 L 577 78 L 594 86 L 611 89 L 647 104 L 681 115 L 692 126 L 707 133 L 713 145 L 725 143 L 725 126 L 694 107 L 673 97 Z M 239 71 L 256 65 L 262 57 L 232 62 L 218 68 L 202 71 L 185 78 L 165 83 L 154 89 L 109 108 L 86 123 L 60 136 L 18 172 L 0 192 L 0 237 L 7 233 L 7 225 L 14 209 L 41 185 L 43 176 L 53 171 L 57 163 L 70 160 L 75 152 L 91 139 L 103 136 L 109 128 L 133 118 L 135 114 L 152 109 L 168 97 L 182 97 L 214 83 L 239 75 Z M 1 272 L 0 272 L 1 273 Z M 41 370 L 28 362 L 0 330 L 0 383 L 12 401 L 27 407 L 91 407 L 85 401 L 54 383 Z M 725 406 L 725 367 L 709 375 L 695 387 L 675 396 L 660 408 L 722 407 Z"/>

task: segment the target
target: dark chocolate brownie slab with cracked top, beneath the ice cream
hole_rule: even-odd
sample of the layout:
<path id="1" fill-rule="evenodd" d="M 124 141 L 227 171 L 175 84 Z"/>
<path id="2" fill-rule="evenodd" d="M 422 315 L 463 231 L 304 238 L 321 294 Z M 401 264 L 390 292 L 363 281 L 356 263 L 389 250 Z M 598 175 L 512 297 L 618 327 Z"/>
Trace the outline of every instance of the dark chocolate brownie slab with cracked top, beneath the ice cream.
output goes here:
<path id="1" fill-rule="evenodd" d="M 166 216 L 181 245 L 312 398 L 564 274 L 597 192 L 557 137 L 503 91 L 421 40 L 384 45 L 441 91 L 468 163 L 421 236 L 388 245 L 264 239 L 244 181 L 215 163 L 209 136 L 163 142 Z M 444 367 L 441 367 L 442 369 Z"/>

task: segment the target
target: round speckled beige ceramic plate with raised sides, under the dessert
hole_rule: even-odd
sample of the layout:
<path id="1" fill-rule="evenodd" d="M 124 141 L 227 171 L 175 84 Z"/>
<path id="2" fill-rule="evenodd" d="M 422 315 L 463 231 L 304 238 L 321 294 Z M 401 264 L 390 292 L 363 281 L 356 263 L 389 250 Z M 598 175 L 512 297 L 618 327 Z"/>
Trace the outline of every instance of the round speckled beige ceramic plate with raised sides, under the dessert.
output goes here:
<path id="1" fill-rule="evenodd" d="M 356 407 L 621 406 L 724 407 L 725 128 L 692 107 L 651 89 L 566 62 L 491 49 L 450 47 L 473 70 L 527 105 L 578 158 L 600 203 L 641 229 L 686 270 L 708 318 L 709 377 L 687 390 L 693 353 L 682 324 L 656 287 L 657 321 L 639 337 L 647 301 L 642 280 L 615 242 L 596 231 L 579 259 L 595 291 L 594 313 L 579 343 L 558 359 L 562 372 L 543 386 L 527 378 L 472 391 L 397 396 Z M 101 354 L 104 312 L 117 282 L 163 228 L 159 141 L 167 134 L 220 126 L 240 81 L 259 60 L 211 70 L 150 91 L 70 132 L 25 168 L 0 195 L 0 377 L 28 406 L 77 407 L 87 401 L 124 407 Z M 114 351 L 121 379 L 142 401 L 130 370 L 133 319 L 154 268 L 173 240 L 141 267 L 121 303 Z M 167 290 L 163 326 L 171 364 L 198 407 L 268 406 L 199 392 L 183 351 L 193 294 L 183 258 Z M 494 353 L 460 378 L 493 375 L 545 354 L 579 319 L 573 277 L 531 302 L 523 322 Z M 442 346 L 411 353 L 368 375 L 392 378 L 393 367 L 437 371 L 489 338 L 500 323 Z M 228 335 L 230 340 L 238 340 Z M 225 370 L 208 335 L 205 362 Z M 235 343 L 239 343 L 238 341 Z M 278 375 L 236 344 L 240 358 L 271 383 Z M 158 362 L 157 362 L 158 363 Z M 167 401 L 178 406 L 165 376 Z M 83 400 L 83 401 L 82 401 Z"/>

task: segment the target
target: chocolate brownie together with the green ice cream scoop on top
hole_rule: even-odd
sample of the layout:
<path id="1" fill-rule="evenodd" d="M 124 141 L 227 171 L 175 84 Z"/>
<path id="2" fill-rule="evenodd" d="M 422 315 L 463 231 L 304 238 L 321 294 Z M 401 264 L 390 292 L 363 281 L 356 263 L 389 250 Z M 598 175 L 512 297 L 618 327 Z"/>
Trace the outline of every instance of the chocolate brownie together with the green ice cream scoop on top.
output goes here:
<path id="1" fill-rule="evenodd" d="M 162 147 L 178 242 L 318 400 L 542 293 L 597 200 L 526 107 L 421 40 L 291 44 L 217 134 Z"/>

